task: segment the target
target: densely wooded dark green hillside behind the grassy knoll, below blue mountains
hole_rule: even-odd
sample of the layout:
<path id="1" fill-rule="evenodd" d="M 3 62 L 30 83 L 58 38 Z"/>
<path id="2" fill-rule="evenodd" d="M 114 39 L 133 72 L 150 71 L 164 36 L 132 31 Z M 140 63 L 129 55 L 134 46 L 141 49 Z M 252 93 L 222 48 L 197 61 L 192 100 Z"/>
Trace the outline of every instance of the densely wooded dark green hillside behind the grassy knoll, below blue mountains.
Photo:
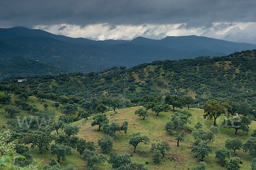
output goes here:
<path id="1" fill-rule="evenodd" d="M 228 99 L 230 102 L 243 101 L 255 107 L 255 65 L 253 50 L 236 52 L 225 57 L 155 61 L 129 69 L 113 67 L 99 73 L 25 77 L 27 81 L 20 84 L 17 79 L 24 77 L 17 77 L 12 79 L 11 85 L 25 85 L 30 91 L 46 91 L 57 96 L 102 99 L 122 97 L 123 75 L 126 74 L 128 99 L 150 93 L 170 93 L 194 97 L 193 107 L 196 108 L 201 108 L 205 101 L 215 98 Z M 9 79 L 3 83 L 9 84 Z"/>

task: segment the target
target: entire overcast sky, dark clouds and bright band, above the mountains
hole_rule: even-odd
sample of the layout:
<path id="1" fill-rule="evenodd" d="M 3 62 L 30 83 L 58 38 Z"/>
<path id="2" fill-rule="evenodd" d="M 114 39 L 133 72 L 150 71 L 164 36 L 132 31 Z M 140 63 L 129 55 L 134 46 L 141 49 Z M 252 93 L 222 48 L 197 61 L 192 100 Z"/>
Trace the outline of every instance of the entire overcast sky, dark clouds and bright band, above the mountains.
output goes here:
<path id="1" fill-rule="evenodd" d="M 256 44 L 256 0 L 1 0 L 0 28 L 92 40 L 198 35 Z"/>

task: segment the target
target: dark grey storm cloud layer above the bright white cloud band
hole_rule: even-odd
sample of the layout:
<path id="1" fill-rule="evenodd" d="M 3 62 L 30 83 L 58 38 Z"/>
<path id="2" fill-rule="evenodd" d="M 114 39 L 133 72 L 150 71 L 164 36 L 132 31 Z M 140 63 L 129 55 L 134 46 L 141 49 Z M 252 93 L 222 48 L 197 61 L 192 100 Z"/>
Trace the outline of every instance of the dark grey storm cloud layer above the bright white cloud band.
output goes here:
<path id="1" fill-rule="evenodd" d="M 0 26 L 255 22 L 255 0 L 1 0 Z"/>

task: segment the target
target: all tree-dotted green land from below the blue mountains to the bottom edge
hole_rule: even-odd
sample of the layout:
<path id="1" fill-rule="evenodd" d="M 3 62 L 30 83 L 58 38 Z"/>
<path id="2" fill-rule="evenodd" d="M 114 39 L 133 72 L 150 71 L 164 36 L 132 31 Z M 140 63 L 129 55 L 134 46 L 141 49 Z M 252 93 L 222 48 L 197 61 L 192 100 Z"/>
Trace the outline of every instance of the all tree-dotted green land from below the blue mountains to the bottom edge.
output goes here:
<path id="1" fill-rule="evenodd" d="M 26 81 L 17 82 L 17 79 Z M 255 170 L 255 81 L 256 50 L 224 57 L 154 61 L 128 69 L 113 67 L 99 73 L 4 79 L 0 82 L 3 118 L 0 166 L 6 170 L 8 166 L 28 170 L 76 170 L 76 164 L 63 162 L 68 161 L 67 156 L 77 153 L 87 170 L 157 169 L 157 165 L 166 166 L 168 159 L 175 160 L 170 150 L 179 152 L 180 145 L 192 141 L 188 152 L 193 154 L 193 161 L 200 161 L 192 170 L 211 169 L 213 165 L 205 159 L 213 150 L 219 160 L 218 169 L 239 170 L 250 164 L 251 170 Z M 125 105 L 127 109 L 120 110 Z M 129 109 L 132 119 L 127 117 Z M 198 113 L 200 109 L 202 114 Z M 152 114 L 156 117 L 152 118 Z M 220 119 L 223 115 L 225 118 Z M 21 120 L 26 116 L 29 124 L 20 126 L 15 116 Z M 141 119 L 137 120 L 138 116 Z M 166 140 L 155 140 L 151 138 L 152 132 L 136 130 L 138 122 L 131 123 L 133 119 L 162 121 L 159 133 L 163 133 Z M 83 125 L 78 126 L 78 122 Z M 90 131 L 90 136 L 98 134 L 102 138 L 93 142 L 95 139 L 90 140 L 83 130 Z M 231 135 L 234 136 L 227 137 Z M 243 139 L 239 135 L 244 136 Z M 175 146 L 170 146 L 169 139 L 175 141 Z M 221 148 L 212 147 L 220 140 L 224 141 L 223 146 L 218 146 Z M 133 147 L 132 152 L 113 152 L 120 141 Z M 139 157 L 137 146 L 148 143 L 151 144 L 149 150 L 139 148 L 140 155 L 146 156 Z M 124 146 L 120 145 L 118 150 Z M 50 150 L 55 159 L 41 165 L 32 159 L 37 158 L 30 153 L 35 150 L 36 155 Z M 239 156 L 241 153 L 237 155 L 236 150 L 243 150 L 246 160 Z M 174 164 L 172 168 L 175 167 Z"/>

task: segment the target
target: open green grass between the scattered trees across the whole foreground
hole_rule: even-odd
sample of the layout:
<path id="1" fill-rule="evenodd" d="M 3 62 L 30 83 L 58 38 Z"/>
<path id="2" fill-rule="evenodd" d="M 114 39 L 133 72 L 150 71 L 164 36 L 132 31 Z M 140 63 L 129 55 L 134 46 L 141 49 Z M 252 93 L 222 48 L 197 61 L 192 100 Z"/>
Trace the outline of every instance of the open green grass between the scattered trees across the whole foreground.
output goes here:
<path id="1" fill-rule="evenodd" d="M 17 99 L 18 96 L 12 95 L 12 101 L 14 99 Z M 51 112 L 55 112 L 56 116 L 61 115 L 61 108 L 54 107 L 53 101 L 44 100 L 45 102 L 41 102 L 41 100 L 35 98 L 35 97 L 29 97 L 28 103 L 29 105 L 33 105 L 40 110 L 44 110 L 44 103 L 47 103 L 49 105 L 48 110 Z M 13 104 L 9 103 L 9 104 Z M 8 105 L 8 104 L 6 104 Z M 4 107 L 6 105 L 0 105 L 0 112 L 4 113 Z M 110 122 L 118 122 L 119 124 L 122 124 L 124 121 L 128 121 L 128 132 L 127 134 L 123 132 L 116 132 L 116 138 L 114 139 L 114 146 L 113 146 L 113 152 L 117 152 L 119 155 L 128 153 L 131 156 L 132 161 L 145 163 L 148 161 L 148 164 L 145 165 L 145 167 L 148 168 L 148 170 L 166 170 L 166 169 L 174 169 L 174 170 L 187 170 L 188 168 L 195 167 L 199 164 L 199 158 L 195 158 L 195 154 L 191 153 L 191 149 L 194 146 L 194 138 L 191 135 L 192 130 L 195 130 L 195 123 L 200 121 L 204 124 L 204 130 L 209 130 L 209 127 L 213 124 L 212 121 L 209 121 L 207 119 L 203 119 L 203 113 L 204 111 L 201 109 L 190 109 L 192 113 L 192 117 L 190 118 L 191 124 L 187 124 L 186 128 L 184 129 L 187 133 L 185 136 L 185 141 L 180 142 L 180 147 L 176 146 L 175 136 L 171 136 L 168 133 L 166 133 L 164 126 L 166 122 L 169 121 L 172 114 L 174 114 L 173 111 L 169 112 L 161 112 L 159 113 L 159 116 L 156 116 L 156 113 L 152 113 L 151 111 L 148 111 L 149 117 L 146 117 L 145 120 L 142 119 L 142 117 L 134 115 L 134 112 L 140 107 L 133 107 L 133 108 L 127 108 L 127 109 L 119 109 L 117 110 L 118 113 L 116 115 L 112 115 L 113 111 L 110 111 L 107 113 L 108 118 L 110 119 Z M 179 111 L 178 109 L 176 111 Z M 19 114 L 16 114 L 15 116 L 21 116 L 20 119 L 23 119 L 23 116 L 32 116 L 32 113 L 28 113 L 28 111 L 22 111 Z M 6 125 L 5 123 L 8 121 L 8 119 L 16 119 L 9 118 L 5 114 L 0 114 L 0 125 Z M 224 117 L 221 117 L 217 120 L 217 123 L 219 122 L 221 124 Z M 77 125 L 81 127 L 78 136 L 80 138 L 84 138 L 87 141 L 93 141 L 96 146 L 96 150 L 98 153 L 101 153 L 101 150 L 97 144 L 98 139 L 105 136 L 105 134 L 102 131 L 97 131 L 98 127 L 91 126 L 91 120 L 87 121 L 84 124 L 84 119 L 81 119 L 78 122 L 74 122 L 74 125 Z M 8 125 L 6 125 L 6 128 L 11 128 Z M 218 161 L 218 159 L 215 158 L 215 150 L 218 148 L 224 147 L 224 143 L 227 139 L 233 138 L 233 137 L 239 137 L 243 140 L 243 142 L 246 142 L 246 139 L 250 136 L 250 133 L 253 131 L 253 129 L 256 129 L 256 122 L 252 122 L 250 125 L 250 132 L 248 134 L 243 133 L 241 130 L 238 131 L 238 135 L 234 135 L 235 130 L 233 129 L 225 129 L 220 128 L 221 134 L 215 136 L 215 140 L 213 143 L 210 143 L 209 145 L 212 146 L 212 153 L 207 156 L 204 161 L 207 163 L 208 167 L 207 170 L 224 170 L 224 163 L 221 161 Z M 136 148 L 137 152 L 133 153 L 133 146 L 128 144 L 129 141 L 129 135 L 132 133 L 141 132 L 141 134 L 148 135 L 149 139 L 151 139 L 151 143 L 153 142 L 161 142 L 162 140 L 166 140 L 169 142 L 170 146 L 172 147 L 172 150 L 166 153 L 166 157 L 164 159 L 161 159 L 160 164 L 155 164 L 152 160 L 152 156 L 150 153 L 150 147 L 151 143 L 148 145 L 139 144 Z M 55 133 L 55 132 L 53 132 Z M 63 133 L 60 130 L 60 133 Z M 243 161 L 243 164 L 241 164 L 241 169 L 250 169 L 251 160 L 253 159 L 251 156 L 249 156 L 248 153 L 244 153 L 242 150 L 237 150 L 236 153 L 238 154 L 239 158 Z M 46 150 L 43 154 L 41 154 L 38 151 L 38 147 L 35 147 L 34 149 L 31 149 L 32 156 L 37 159 L 41 164 L 48 164 L 52 158 L 56 159 L 56 155 L 52 156 L 50 154 L 50 150 Z M 233 151 L 231 150 L 231 156 L 234 157 Z M 79 170 L 84 170 L 86 167 L 86 162 L 82 159 L 82 156 L 79 155 L 79 153 L 76 150 L 73 150 L 73 155 L 67 156 L 66 161 L 61 161 L 61 166 L 65 167 L 67 164 L 74 164 Z M 101 169 L 104 170 L 106 168 L 111 168 L 111 164 L 108 164 L 105 162 Z"/>

